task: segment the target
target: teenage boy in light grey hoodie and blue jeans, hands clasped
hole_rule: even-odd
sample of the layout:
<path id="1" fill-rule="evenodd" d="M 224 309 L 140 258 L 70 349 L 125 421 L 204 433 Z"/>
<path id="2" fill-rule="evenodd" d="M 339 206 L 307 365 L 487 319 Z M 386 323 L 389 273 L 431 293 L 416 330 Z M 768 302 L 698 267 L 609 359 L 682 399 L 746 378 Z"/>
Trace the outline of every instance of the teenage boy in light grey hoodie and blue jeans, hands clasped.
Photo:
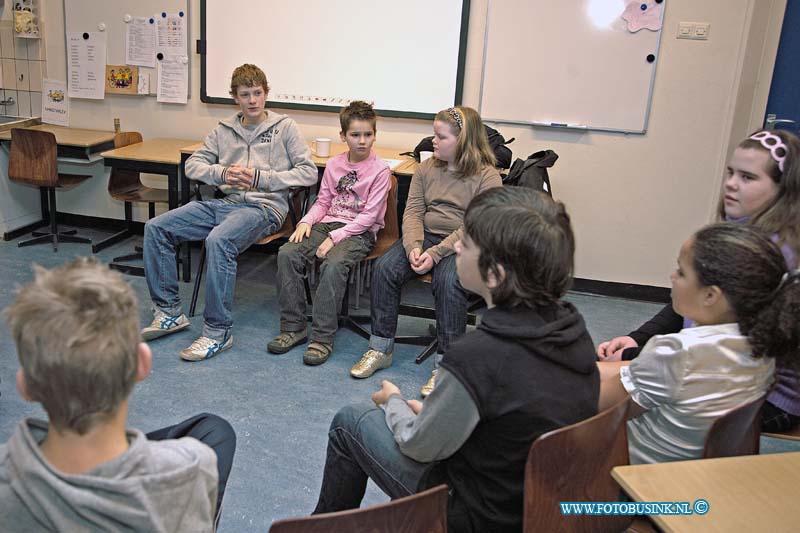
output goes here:
<path id="1" fill-rule="evenodd" d="M 145 225 L 144 269 L 154 317 L 142 330 L 144 340 L 189 327 L 178 295 L 175 250 L 180 243 L 205 239 L 203 331 L 181 352 L 187 361 L 208 359 L 232 346 L 236 258 L 281 227 L 290 187 L 317 182 L 317 168 L 297 124 L 264 109 L 268 92 L 260 68 L 244 64 L 233 71 L 231 96 L 239 113 L 221 120 L 186 162 L 189 179 L 215 185 L 225 197 L 190 202 Z"/>

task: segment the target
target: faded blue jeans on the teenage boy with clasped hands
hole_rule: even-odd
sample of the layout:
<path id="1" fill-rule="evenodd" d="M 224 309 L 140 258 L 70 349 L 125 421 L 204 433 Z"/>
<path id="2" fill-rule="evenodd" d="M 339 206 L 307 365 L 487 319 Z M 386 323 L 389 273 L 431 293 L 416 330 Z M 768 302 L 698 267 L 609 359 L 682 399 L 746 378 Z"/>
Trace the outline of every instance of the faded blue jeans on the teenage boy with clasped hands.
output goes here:
<path id="1" fill-rule="evenodd" d="M 153 304 L 170 316 L 183 312 L 175 250 L 183 242 L 205 239 L 203 336 L 226 338 L 233 326 L 236 258 L 279 227 L 278 217 L 266 207 L 225 199 L 189 202 L 150 219 L 144 227 L 144 272 Z"/>

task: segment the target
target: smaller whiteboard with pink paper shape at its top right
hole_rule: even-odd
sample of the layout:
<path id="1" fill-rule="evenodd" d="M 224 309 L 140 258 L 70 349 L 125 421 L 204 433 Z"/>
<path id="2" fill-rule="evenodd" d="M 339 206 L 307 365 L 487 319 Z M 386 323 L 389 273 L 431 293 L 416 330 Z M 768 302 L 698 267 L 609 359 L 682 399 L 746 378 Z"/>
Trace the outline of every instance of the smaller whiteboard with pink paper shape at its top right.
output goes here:
<path id="1" fill-rule="evenodd" d="M 595 11 L 629 1 L 489 0 L 484 120 L 644 133 L 661 31 L 598 26 Z"/>

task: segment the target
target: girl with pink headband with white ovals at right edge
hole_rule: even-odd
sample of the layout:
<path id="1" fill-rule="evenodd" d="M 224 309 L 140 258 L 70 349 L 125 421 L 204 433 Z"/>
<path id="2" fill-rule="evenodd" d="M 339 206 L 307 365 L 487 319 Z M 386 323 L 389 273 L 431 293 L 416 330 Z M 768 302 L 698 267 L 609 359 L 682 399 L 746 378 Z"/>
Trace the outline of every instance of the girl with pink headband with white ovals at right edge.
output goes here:
<path id="1" fill-rule="evenodd" d="M 800 255 L 800 139 L 784 131 L 759 131 L 739 143 L 728 164 L 718 215 L 771 235 L 789 270 Z M 631 360 L 653 336 L 680 331 L 689 321 L 671 304 L 624 337 L 597 349 L 601 361 Z M 762 430 L 787 431 L 800 423 L 800 374 L 779 367 L 762 412 Z"/>

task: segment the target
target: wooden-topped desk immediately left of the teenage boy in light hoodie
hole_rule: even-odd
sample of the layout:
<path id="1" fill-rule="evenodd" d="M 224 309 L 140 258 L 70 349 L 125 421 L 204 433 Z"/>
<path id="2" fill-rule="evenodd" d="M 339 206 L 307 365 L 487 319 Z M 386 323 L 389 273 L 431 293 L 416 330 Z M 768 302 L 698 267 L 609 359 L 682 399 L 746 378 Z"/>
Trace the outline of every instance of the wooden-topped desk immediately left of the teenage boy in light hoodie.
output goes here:
<path id="1" fill-rule="evenodd" d="M 122 148 L 115 148 L 100 155 L 105 159 L 105 165 L 112 169 L 118 168 L 166 175 L 169 189 L 169 208 L 175 209 L 180 203 L 189 201 L 189 181 L 182 172 L 181 149 L 196 144 L 196 140 L 190 139 L 156 138 L 129 144 Z M 179 194 L 181 201 L 178 199 Z M 183 281 L 189 281 L 191 279 L 189 247 L 184 246 L 183 248 L 184 250 L 181 254 Z M 140 267 L 119 265 L 119 268 L 131 274 L 143 274 L 143 270 Z"/>

